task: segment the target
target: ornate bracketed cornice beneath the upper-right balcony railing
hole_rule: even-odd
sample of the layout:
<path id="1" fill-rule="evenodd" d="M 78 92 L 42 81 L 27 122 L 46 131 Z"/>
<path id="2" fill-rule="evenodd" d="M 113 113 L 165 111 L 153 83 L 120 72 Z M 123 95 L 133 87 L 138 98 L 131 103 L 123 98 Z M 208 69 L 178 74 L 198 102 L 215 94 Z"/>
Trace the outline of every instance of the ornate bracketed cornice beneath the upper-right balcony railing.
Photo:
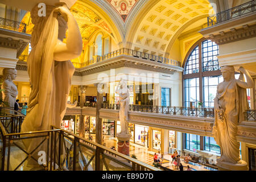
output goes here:
<path id="1" fill-rule="evenodd" d="M 236 42 L 238 40 L 253 38 L 256 36 L 256 24 L 253 26 L 245 25 L 242 28 L 232 28 L 228 32 L 219 32 L 217 35 L 209 35 L 209 39 L 214 41 L 216 44 L 226 44 L 230 42 Z"/>

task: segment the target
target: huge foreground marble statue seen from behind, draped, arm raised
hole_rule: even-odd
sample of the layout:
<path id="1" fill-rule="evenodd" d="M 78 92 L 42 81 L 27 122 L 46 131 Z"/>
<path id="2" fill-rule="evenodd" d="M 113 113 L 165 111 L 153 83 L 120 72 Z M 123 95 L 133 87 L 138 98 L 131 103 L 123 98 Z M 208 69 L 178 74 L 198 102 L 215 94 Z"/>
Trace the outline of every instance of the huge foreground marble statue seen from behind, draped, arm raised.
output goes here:
<path id="1" fill-rule="evenodd" d="M 79 26 L 66 5 L 46 5 L 46 16 L 38 16 L 38 10 L 38 6 L 31 10 L 34 28 L 32 49 L 27 59 L 31 93 L 22 132 L 50 130 L 51 125 L 61 127 L 75 72 L 70 60 L 82 52 Z M 67 28 L 68 36 L 64 43 Z M 25 139 L 23 143 L 27 151 L 32 152 L 41 141 L 42 138 L 34 138 Z M 33 153 L 35 159 L 40 150 L 47 150 L 46 142 Z M 28 160 L 28 168 L 35 169 L 36 165 L 35 160 Z"/>

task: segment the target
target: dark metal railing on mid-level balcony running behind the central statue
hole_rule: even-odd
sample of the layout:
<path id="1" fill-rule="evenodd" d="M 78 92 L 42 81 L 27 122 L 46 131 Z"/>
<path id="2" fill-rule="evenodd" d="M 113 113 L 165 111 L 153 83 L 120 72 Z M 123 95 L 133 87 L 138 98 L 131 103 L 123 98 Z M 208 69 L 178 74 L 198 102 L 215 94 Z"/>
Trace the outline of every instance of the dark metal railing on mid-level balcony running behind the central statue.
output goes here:
<path id="1" fill-rule="evenodd" d="M 102 104 L 103 109 L 120 108 L 119 104 Z M 139 111 L 146 113 L 159 113 L 171 115 L 185 115 L 191 117 L 209 117 L 214 118 L 214 108 L 212 107 L 176 107 L 176 106 L 150 106 L 150 105 L 130 105 L 130 111 Z"/>

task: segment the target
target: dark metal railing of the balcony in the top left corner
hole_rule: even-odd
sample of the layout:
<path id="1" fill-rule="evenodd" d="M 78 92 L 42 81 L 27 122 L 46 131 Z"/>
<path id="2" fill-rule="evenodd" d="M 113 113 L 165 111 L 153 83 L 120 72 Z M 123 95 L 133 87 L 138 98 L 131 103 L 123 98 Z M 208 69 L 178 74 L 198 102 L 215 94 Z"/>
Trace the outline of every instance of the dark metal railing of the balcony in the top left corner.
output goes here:
<path id="1" fill-rule="evenodd" d="M 14 20 L 0 18 L 0 28 L 5 28 L 8 30 L 13 30 L 17 32 L 26 33 L 26 23 L 16 22 Z"/>

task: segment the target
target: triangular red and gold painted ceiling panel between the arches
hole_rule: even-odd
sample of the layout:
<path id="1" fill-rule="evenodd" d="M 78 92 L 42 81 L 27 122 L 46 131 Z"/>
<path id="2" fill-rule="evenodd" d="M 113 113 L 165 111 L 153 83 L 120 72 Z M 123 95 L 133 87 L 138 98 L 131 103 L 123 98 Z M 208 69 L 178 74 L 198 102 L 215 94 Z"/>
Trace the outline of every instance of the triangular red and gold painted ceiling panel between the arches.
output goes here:
<path id="1" fill-rule="evenodd" d="M 130 11 L 133 9 L 138 0 L 107 0 L 115 11 L 121 16 L 125 22 Z"/>

